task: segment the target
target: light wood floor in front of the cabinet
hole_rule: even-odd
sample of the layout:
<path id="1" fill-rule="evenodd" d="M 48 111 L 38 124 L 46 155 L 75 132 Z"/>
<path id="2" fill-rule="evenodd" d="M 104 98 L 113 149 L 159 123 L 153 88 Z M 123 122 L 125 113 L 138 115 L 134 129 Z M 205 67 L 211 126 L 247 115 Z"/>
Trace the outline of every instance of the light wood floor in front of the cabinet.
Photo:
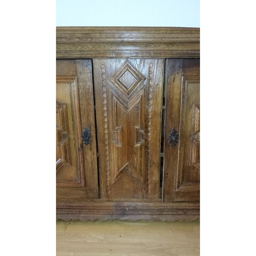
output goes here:
<path id="1" fill-rule="evenodd" d="M 200 221 L 56 222 L 57 256 L 199 256 Z"/>

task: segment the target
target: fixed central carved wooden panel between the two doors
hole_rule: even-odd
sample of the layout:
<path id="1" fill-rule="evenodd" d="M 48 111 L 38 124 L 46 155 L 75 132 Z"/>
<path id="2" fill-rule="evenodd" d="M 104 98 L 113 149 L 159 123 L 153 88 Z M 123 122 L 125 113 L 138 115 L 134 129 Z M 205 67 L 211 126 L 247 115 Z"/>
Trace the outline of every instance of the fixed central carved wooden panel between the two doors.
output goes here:
<path id="1" fill-rule="evenodd" d="M 159 197 L 163 59 L 94 59 L 101 198 Z"/>

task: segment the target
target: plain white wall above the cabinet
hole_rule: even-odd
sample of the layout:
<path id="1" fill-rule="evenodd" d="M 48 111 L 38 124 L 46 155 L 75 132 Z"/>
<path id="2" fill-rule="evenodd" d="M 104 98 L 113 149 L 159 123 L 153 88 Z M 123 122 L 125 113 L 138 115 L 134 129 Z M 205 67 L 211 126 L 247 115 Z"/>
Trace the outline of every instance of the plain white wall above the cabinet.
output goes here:
<path id="1" fill-rule="evenodd" d="M 200 27 L 200 0 L 56 0 L 56 26 Z"/>

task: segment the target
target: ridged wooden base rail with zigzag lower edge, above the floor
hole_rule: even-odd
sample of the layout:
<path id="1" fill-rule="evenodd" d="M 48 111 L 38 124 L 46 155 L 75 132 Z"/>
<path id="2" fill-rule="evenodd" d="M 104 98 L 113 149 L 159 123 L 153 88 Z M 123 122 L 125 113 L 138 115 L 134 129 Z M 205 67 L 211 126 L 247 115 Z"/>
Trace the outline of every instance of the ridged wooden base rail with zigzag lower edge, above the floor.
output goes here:
<path id="1" fill-rule="evenodd" d="M 63 220 L 199 220 L 199 203 L 163 203 L 161 200 L 59 200 L 56 218 Z"/>

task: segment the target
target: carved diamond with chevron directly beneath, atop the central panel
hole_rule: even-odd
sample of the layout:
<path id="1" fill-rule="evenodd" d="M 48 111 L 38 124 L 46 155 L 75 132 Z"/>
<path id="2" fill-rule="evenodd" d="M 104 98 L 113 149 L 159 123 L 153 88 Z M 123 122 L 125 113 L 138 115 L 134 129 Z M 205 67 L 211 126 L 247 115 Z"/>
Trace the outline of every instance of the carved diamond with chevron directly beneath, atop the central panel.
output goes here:
<path id="1" fill-rule="evenodd" d="M 116 102 L 127 112 L 139 102 L 145 88 L 143 83 L 145 79 L 146 77 L 128 60 L 109 79 Z"/>

